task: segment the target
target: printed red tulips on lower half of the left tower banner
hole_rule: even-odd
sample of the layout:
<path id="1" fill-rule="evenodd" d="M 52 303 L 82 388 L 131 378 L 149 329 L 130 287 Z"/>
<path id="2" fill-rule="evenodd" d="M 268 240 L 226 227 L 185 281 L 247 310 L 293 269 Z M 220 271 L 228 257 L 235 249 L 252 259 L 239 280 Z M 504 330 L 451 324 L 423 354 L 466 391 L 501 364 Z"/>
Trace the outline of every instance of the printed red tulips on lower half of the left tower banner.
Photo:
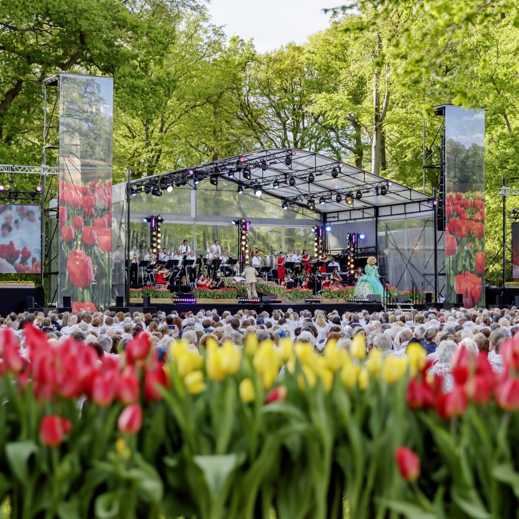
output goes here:
<path id="1" fill-rule="evenodd" d="M 59 225 L 66 270 L 61 295 L 72 298 L 75 310 L 95 311 L 109 304 L 111 297 L 112 181 L 84 184 L 60 181 Z"/>

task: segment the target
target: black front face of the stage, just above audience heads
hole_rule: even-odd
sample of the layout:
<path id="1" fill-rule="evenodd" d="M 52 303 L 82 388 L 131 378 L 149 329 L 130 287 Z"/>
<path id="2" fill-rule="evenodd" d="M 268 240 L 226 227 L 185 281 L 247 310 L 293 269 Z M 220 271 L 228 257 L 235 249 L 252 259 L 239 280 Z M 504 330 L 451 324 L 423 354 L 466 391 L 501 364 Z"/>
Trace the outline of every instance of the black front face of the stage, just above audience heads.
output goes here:
<path id="1" fill-rule="evenodd" d="M 140 303 L 132 303 L 130 305 L 129 311 L 136 311 L 139 308 L 141 311 L 142 304 Z M 225 301 L 217 301 L 215 299 L 214 302 L 211 303 L 153 303 L 149 308 L 145 308 L 144 311 L 151 311 L 152 313 L 157 310 L 161 310 L 166 313 L 170 313 L 172 310 L 176 310 L 177 312 L 188 312 L 191 311 L 193 313 L 197 313 L 200 310 L 212 310 L 216 309 L 218 311 L 218 315 L 222 315 L 222 312 L 229 311 L 231 313 L 236 313 L 238 310 L 243 310 L 247 308 L 248 310 L 255 310 L 256 312 L 267 311 L 272 314 L 273 310 L 282 310 L 286 312 L 289 308 L 300 313 L 302 310 L 310 310 L 312 313 L 314 310 L 324 310 L 326 313 L 331 312 L 333 310 L 337 310 L 339 315 L 343 315 L 344 312 L 360 312 L 362 310 L 367 310 L 368 312 L 380 312 L 383 310 L 383 306 L 380 303 L 345 303 L 345 304 L 320 304 L 320 303 L 299 303 L 299 304 L 287 304 L 287 303 L 270 303 L 268 301 L 262 303 L 226 303 Z M 128 307 L 125 308 L 115 308 L 116 311 L 128 311 Z"/>

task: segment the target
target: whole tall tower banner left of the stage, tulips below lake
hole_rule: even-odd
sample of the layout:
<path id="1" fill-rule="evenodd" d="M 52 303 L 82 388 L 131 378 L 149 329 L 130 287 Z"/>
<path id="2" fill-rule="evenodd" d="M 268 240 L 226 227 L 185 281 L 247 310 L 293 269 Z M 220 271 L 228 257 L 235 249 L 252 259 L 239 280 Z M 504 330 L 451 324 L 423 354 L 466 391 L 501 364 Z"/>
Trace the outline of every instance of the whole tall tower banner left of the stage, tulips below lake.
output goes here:
<path id="1" fill-rule="evenodd" d="M 60 75 L 60 295 L 103 309 L 112 293 L 112 79 Z"/>

